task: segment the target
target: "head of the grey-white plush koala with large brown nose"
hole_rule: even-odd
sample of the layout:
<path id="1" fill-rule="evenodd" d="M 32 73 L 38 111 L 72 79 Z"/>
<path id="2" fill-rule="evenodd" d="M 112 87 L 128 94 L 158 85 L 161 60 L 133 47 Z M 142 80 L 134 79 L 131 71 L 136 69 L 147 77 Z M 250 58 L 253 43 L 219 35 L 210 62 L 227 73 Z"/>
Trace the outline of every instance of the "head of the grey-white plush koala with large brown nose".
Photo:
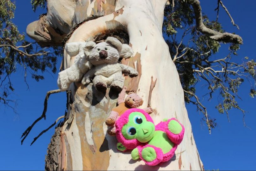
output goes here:
<path id="1" fill-rule="evenodd" d="M 106 63 L 117 63 L 119 58 L 129 58 L 133 51 L 127 44 L 122 44 L 114 37 L 107 37 L 106 42 L 86 46 L 84 53 L 88 55 L 89 61 L 98 66 Z"/>

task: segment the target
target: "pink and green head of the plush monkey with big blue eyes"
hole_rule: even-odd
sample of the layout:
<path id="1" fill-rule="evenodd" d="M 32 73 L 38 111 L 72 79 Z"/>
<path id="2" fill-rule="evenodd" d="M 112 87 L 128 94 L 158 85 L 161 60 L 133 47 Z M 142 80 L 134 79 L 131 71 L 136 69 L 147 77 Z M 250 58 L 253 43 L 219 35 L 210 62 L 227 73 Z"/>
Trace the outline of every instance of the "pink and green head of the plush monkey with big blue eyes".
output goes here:
<path id="1" fill-rule="evenodd" d="M 155 135 L 155 124 L 147 112 L 132 108 L 121 115 L 115 124 L 117 140 L 128 149 L 146 143 Z"/>

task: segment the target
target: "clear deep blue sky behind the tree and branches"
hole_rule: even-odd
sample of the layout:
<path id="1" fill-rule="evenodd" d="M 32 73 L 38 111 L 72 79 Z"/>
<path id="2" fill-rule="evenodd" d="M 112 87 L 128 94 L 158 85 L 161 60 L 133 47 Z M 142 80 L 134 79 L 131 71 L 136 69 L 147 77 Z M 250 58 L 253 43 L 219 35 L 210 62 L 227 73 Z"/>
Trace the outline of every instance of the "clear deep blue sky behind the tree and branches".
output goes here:
<path id="1" fill-rule="evenodd" d="M 208 14 L 210 20 L 216 19 L 216 1 L 201 0 L 203 12 Z M 225 6 L 229 9 L 235 23 L 239 25 L 240 30 L 230 23 L 230 19 L 223 9 L 220 10 L 219 21 L 226 31 L 239 34 L 244 44 L 235 57 L 236 62 L 241 62 L 242 58 L 248 56 L 255 60 L 255 20 L 256 1 L 223 0 Z M 18 0 L 16 2 L 16 12 L 14 23 L 18 26 L 20 32 L 26 31 L 26 26 L 38 20 L 40 14 L 45 13 L 46 9 L 38 9 L 33 12 L 29 1 Z M 27 37 L 28 38 L 28 37 Z M 224 50 L 214 57 L 219 58 L 226 55 Z M 58 65 L 61 59 L 58 60 Z M 12 95 L 18 99 L 16 107 L 18 114 L 13 113 L 11 109 L 4 109 L 0 106 L 0 117 L 2 120 L 1 134 L 1 167 L 0 170 L 44 170 L 45 155 L 50 138 L 54 133 L 54 128 L 43 134 L 32 146 L 30 143 L 43 129 L 51 125 L 56 118 L 64 115 L 65 93 L 52 94 L 48 101 L 46 120 L 37 123 L 27 139 L 21 145 L 20 137 L 23 131 L 38 118 L 43 111 L 43 102 L 47 91 L 57 89 L 58 74 L 45 73 L 45 80 L 36 82 L 30 75 L 27 77 L 30 90 L 27 90 L 24 82 L 24 71 L 19 68 L 11 76 L 11 81 L 15 88 Z M 197 86 L 200 89 L 199 95 L 205 94 L 206 88 L 202 85 Z M 209 134 L 205 124 L 202 124 L 196 107 L 187 105 L 189 119 L 192 124 L 194 139 L 199 151 L 199 155 L 206 170 L 219 168 L 220 170 L 256 170 L 256 100 L 248 95 L 250 85 L 244 83 L 240 87 L 240 97 L 238 100 L 241 108 L 247 111 L 245 121 L 251 129 L 245 128 L 242 122 L 242 113 L 238 110 L 229 112 L 230 123 L 225 114 L 221 115 L 215 109 L 217 104 L 217 95 L 210 102 L 205 98 L 204 105 L 208 108 L 211 117 L 217 119 L 218 126 Z"/>

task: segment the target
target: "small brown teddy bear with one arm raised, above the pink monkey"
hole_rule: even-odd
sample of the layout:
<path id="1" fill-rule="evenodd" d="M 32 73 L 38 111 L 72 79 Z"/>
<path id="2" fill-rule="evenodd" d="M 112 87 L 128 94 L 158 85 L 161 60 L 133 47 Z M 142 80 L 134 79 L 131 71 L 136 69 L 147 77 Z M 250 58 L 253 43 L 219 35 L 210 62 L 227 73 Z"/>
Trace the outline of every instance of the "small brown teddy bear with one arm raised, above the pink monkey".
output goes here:
<path id="1" fill-rule="evenodd" d="M 126 90 L 127 88 L 124 86 L 117 99 L 118 106 L 112 109 L 109 117 L 106 119 L 106 125 L 110 126 L 107 129 L 109 135 L 115 135 L 115 122 L 125 111 L 131 108 L 137 108 L 143 104 L 143 100 L 135 93 L 130 92 L 125 98 Z M 153 112 L 151 107 L 146 107 L 143 110 L 148 114 Z"/>

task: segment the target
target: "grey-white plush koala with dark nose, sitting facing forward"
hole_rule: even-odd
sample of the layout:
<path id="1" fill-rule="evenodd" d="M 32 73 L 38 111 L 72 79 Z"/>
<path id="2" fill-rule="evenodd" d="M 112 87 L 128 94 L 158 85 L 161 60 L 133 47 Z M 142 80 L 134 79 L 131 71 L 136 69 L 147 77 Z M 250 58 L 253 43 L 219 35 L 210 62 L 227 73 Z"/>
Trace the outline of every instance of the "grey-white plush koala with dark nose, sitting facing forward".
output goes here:
<path id="1" fill-rule="evenodd" d="M 88 42 L 90 43 L 90 42 Z M 90 83 L 94 77 L 93 85 L 101 92 L 106 92 L 107 86 L 115 92 L 124 87 L 122 72 L 136 76 L 138 72 L 130 66 L 119 64 L 119 58 L 129 58 L 133 54 L 128 44 L 122 44 L 114 37 L 108 37 L 106 42 L 96 44 L 89 53 L 89 61 L 94 65 L 83 77 L 82 84 Z"/>

